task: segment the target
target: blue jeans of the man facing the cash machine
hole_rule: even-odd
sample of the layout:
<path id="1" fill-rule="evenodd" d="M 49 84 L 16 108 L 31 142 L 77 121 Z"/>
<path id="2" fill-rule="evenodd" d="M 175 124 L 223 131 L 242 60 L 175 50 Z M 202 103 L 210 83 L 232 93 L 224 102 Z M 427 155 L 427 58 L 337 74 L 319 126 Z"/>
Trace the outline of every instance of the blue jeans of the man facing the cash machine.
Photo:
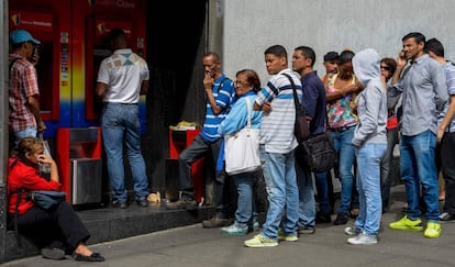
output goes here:
<path id="1" fill-rule="evenodd" d="M 136 200 L 148 196 L 148 179 L 141 152 L 141 123 L 137 104 L 106 103 L 101 113 L 101 132 L 112 187 L 112 200 L 126 202 L 124 187 L 123 141 L 134 181 Z"/>

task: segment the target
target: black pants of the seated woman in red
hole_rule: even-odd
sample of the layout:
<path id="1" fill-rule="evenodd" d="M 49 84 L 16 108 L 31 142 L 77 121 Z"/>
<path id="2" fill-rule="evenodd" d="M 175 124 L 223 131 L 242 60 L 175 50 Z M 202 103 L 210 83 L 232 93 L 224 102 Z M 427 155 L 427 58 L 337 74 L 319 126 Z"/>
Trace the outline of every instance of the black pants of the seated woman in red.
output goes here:
<path id="1" fill-rule="evenodd" d="M 9 227 L 13 229 L 14 215 L 10 214 L 9 218 Z M 18 215 L 18 230 L 38 248 L 51 246 L 68 254 L 90 237 L 87 227 L 67 202 L 62 202 L 52 210 L 33 207 Z"/>

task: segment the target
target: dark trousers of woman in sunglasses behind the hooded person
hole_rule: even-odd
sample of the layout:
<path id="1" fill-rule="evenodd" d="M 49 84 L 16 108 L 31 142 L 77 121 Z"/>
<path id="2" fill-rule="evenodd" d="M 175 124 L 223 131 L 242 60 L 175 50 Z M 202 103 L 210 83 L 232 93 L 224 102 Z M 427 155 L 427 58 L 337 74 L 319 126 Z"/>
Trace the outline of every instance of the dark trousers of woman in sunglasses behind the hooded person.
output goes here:
<path id="1" fill-rule="evenodd" d="M 389 207 L 390 187 L 393 179 L 393 148 L 398 144 L 398 127 L 387 130 L 387 151 L 380 163 L 382 210 Z"/>

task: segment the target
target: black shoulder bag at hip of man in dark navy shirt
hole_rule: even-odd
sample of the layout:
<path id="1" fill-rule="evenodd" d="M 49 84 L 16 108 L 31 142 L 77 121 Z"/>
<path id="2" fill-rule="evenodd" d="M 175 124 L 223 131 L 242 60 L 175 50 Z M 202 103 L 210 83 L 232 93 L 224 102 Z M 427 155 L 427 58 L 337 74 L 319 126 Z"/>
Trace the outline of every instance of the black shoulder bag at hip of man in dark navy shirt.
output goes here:
<path id="1" fill-rule="evenodd" d="M 303 141 L 296 151 L 296 160 L 303 169 L 329 171 L 336 163 L 336 151 L 330 133 L 322 133 Z"/>

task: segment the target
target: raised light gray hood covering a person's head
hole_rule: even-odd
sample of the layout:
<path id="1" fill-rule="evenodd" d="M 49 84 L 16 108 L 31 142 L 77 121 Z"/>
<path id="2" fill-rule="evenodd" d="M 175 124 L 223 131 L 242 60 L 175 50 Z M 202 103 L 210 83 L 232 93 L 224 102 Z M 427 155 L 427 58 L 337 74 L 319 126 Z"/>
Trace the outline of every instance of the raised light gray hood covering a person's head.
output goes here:
<path id="1" fill-rule="evenodd" d="M 380 81 L 380 58 L 379 54 L 373 48 L 356 53 L 353 58 L 353 68 L 355 76 L 363 86 L 366 86 L 370 80 Z"/>

